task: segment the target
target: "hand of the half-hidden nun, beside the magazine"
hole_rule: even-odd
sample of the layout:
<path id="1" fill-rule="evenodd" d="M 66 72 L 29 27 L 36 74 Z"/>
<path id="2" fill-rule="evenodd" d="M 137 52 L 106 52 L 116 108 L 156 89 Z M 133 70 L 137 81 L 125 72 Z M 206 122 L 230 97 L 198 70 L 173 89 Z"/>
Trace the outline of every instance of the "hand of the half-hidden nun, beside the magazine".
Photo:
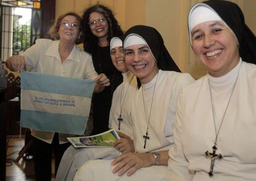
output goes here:
<path id="1" fill-rule="evenodd" d="M 132 140 L 128 135 L 122 132 L 117 131 L 117 133 L 120 139 L 114 143 L 114 147 L 116 148 L 116 150 L 121 151 L 123 154 L 134 152 L 134 140 Z"/>

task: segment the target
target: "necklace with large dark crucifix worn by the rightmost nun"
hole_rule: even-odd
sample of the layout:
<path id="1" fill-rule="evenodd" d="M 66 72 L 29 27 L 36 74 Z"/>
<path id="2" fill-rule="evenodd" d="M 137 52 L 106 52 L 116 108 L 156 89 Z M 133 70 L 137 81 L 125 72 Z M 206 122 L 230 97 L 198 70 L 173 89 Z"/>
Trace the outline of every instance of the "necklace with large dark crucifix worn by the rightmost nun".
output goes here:
<path id="1" fill-rule="evenodd" d="M 205 155 L 207 156 L 207 158 L 210 158 L 211 159 L 211 164 L 210 164 L 210 171 L 208 172 L 208 175 L 210 177 L 213 177 L 213 166 L 214 166 L 214 163 L 215 163 L 215 159 L 221 159 L 223 158 L 223 155 L 221 154 L 216 154 L 216 151 L 218 150 L 217 148 L 217 139 L 218 139 L 218 135 L 220 133 L 220 129 L 221 129 L 221 126 L 222 126 L 222 123 L 223 123 L 223 120 L 224 120 L 224 117 L 226 115 L 226 111 L 228 110 L 228 106 L 229 106 L 229 102 L 231 100 L 231 97 L 233 95 L 233 92 L 234 92 L 234 88 L 236 87 L 236 82 L 237 82 L 237 79 L 238 79 L 238 76 L 239 76 L 239 73 L 237 74 L 237 77 L 236 77 L 236 81 L 234 82 L 234 86 L 233 86 L 233 89 L 232 89 L 232 92 L 230 94 L 230 97 L 229 97 L 229 100 L 228 100 L 228 104 L 224 110 L 224 114 L 223 114 L 223 117 L 221 119 L 221 123 L 220 123 L 220 127 L 219 129 L 217 130 L 216 129 L 216 121 L 215 121 L 215 109 L 213 107 L 213 98 L 212 98 L 212 94 L 211 94 L 211 86 L 210 86 L 210 81 L 208 79 L 208 86 L 209 86 L 209 90 L 210 90 L 210 97 L 211 97 L 211 111 L 213 113 L 213 122 L 214 122 L 214 128 L 215 128 L 215 142 L 214 142 L 214 145 L 213 145 L 213 152 L 210 153 L 209 151 L 205 151 Z"/>

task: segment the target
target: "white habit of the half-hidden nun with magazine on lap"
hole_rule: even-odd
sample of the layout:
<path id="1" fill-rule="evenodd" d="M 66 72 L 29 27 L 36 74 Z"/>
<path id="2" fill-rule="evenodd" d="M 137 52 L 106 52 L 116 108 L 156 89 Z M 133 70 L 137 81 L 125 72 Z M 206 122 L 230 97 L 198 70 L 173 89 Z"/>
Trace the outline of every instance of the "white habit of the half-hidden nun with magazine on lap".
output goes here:
<path id="1" fill-rule="evenodd" d="M 132 121 L 130 118 L 130 103 L 134 98 L 136 91 L 137 79 L 134 74 L 132 74 L 130 71 L 124 73 L 122 84 L 120 84 L 116 88 L 116 91 L 114 91 L 111 112 L 109 115 L 109 128 L 116 129 L 116 131 L 129 135 L 131 138 L 133 133 Z M 125 99 L 124 95 L 126 95 Z M 121 122 L 120 130 L 118 130 L 119 123 L 117 118 L 119 118 L 121 108 L 120 105 L 123 102 L 123 121 Z M 114 147 L 75 148 L 71 145 L 69 148 L 67 148 L 62 156 L 56 175 L 56 180 L 73 180 L 79 167 L 90 159 L 113 159 L 119 155 L 121 155 L 121 152 L 116 150 Z"/>

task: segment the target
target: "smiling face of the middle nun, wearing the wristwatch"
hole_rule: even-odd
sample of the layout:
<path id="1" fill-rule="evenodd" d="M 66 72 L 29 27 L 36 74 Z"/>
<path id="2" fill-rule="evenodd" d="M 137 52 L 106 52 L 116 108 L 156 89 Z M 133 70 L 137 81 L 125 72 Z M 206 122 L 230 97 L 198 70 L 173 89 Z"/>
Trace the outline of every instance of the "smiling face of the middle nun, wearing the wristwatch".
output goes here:
<path id="1" fill-rule="evenodd" d="M 147 44 L 135 44 L 124 50 L 126 66 L 142 84 L 150 82 L 158 73 L 155 57 Z"/>

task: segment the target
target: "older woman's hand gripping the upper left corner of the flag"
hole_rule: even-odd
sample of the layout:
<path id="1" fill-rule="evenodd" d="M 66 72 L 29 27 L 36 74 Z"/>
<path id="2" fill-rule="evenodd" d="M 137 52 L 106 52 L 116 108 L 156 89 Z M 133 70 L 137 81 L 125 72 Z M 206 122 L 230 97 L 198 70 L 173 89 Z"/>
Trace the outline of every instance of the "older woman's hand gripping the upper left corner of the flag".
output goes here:
<path id="1" fill-rule="evenodd" d="M 22 55 L 13 55 L 6 60 L 6 66 L 11 71 L 22 71 L 25 68 L 25 58 Z"/>

